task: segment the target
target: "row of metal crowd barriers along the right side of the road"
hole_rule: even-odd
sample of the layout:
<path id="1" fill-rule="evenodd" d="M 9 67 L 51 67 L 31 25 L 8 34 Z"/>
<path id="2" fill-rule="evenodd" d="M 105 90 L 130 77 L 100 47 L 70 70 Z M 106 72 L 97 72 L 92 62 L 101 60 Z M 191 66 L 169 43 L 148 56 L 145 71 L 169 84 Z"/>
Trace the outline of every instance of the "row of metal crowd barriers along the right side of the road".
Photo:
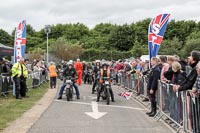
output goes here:
<path id="1" fill-rule="evenodd" d="M 117 75 L 116 81 L 121 87 L 135 92 L 136 96 L 148 98 L 147 77 L 127 75 L 124 72 L 113 75 Z M 187 133 L 200 133 L 200 90 L 198 94 L 192 91 L 174 92 L 172 84 L 159 81 L 156 98 L 157 121 L 162 118 L 167 123 L 173 123 L 177 132 L 182 129 Z"/>

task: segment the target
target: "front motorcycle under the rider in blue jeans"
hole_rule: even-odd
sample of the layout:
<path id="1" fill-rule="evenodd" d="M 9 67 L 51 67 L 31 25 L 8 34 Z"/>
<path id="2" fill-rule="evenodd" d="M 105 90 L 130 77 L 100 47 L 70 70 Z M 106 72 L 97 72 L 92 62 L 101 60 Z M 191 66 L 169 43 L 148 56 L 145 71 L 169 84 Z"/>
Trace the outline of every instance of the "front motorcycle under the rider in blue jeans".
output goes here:
<path id="1" fill-rule="evenodd" d="M 64 83 L 67 101 L 70 101 L 73 99 L 73 80 L 75 80 L 75 78 L 72 78 L 71 76 L 67 76 Z"/>

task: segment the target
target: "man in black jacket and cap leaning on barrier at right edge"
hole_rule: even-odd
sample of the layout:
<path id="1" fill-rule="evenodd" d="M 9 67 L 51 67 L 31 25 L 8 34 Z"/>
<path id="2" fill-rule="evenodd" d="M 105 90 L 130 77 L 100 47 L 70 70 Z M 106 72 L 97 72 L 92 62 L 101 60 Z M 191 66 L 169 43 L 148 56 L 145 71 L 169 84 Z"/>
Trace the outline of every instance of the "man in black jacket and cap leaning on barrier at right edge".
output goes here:
<path id="1" fill-rule="evenodd" d="M 185 90 L 191 90 L 197 78 L 196 65 L 200 61 L 200 52 L 192 51 L 191 56 L 189 58 L 190 58 L 189 64 L 192 67 L 191 72 L 183 81 L 183 83 L 181 83 L 180 85 L 173 86 L 173 89 L 178 90 L 179 92 Z"/>

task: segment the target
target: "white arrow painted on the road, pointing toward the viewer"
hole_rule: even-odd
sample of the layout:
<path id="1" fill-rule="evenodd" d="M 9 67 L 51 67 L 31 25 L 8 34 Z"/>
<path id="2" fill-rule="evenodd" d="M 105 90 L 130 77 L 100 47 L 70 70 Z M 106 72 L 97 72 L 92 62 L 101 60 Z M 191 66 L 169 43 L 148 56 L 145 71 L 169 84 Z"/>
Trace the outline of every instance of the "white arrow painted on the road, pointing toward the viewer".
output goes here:
<path id="1" fill-rule="evenodd" d="M 99 119 L 107 114 L 107 112 L 99 112 L 97 102 L 92 101 L 92 112 L 85 112 L 86 115 L 92 117 L 93 119 Z"/>

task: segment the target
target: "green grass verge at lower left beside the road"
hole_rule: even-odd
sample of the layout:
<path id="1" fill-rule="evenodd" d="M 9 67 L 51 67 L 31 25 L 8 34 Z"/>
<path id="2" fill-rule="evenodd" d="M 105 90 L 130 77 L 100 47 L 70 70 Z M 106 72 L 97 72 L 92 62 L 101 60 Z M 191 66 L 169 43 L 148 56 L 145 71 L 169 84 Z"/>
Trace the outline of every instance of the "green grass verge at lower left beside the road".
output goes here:
<path id="1" fill-rule="evenodd" d="M 21 100 L 15 99 L 12 93 L 9 94 L 8 98 L 0 97 L 0 131 L 40 100 L 47 92 L 48 87 L 48 83 L 44 83 L 37 89 L 31 88 L 27 93 L 29 97 Z"/>

